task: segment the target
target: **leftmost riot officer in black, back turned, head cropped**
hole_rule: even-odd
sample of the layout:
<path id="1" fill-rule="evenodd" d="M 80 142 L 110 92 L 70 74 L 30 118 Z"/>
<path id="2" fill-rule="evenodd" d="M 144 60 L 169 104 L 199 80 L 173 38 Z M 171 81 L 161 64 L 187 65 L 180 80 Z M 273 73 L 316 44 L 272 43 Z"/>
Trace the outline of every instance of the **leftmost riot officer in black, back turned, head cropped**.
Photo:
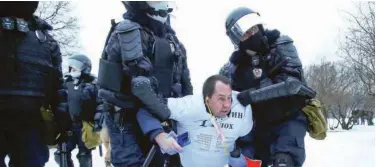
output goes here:
<path id="1" fill-rule="evenodd" d="M 41 107 L 54 112 L 57 129 L 70 123 L 66 111 L 59 45 L 51 25 L 33 15 L 38 1 L 0 2 L 0 166 L 42 167 L 49 136 Z M 53 136 L 55 135 L 52 134 Z M 62 139 L 62 138 L 60 138 Z"/>

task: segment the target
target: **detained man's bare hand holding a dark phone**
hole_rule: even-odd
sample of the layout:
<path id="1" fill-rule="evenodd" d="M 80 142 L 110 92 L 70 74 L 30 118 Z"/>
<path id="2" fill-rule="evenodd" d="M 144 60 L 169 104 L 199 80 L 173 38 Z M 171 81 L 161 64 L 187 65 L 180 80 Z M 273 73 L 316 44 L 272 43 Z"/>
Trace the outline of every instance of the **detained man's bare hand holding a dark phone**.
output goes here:
<path id="1" fill-rule="evenodd" d="M 174 155 L 183 151 L 183 148 L 176 142 L 176 140 L 165 132 L 160 133 L 155 137 L 155 141 L 161 148 L 162 153 Z"/>

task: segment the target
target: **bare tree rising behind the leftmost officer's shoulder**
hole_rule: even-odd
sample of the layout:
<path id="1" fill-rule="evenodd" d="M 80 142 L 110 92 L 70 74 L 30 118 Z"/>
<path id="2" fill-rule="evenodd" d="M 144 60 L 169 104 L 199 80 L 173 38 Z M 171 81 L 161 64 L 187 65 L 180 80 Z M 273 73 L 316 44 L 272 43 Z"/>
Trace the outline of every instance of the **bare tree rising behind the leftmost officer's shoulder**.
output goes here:
<path id="1" fill-rule="evenodd" d="M 71 2 L 41 1 L 35 14 L 53 26 L 51 33 L 59 42 L 64 56 L 70 56 L 81 48 L 78 42 L 79 25 L 72 15 Z"/>

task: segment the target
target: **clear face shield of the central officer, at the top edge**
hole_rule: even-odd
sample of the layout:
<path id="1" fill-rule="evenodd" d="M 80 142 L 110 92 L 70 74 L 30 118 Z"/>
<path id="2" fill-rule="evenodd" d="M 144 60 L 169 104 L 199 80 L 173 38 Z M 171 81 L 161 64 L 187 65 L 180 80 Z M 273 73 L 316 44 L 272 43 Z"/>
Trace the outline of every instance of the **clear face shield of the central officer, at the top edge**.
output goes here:
<path id="1" fill-rule="evenodd" d="M 146 3 L 151 8 L 147 16 L 162 23 L 167 21 L 168 15 L 176 7 L 173 1 L 146 1 Z"/>

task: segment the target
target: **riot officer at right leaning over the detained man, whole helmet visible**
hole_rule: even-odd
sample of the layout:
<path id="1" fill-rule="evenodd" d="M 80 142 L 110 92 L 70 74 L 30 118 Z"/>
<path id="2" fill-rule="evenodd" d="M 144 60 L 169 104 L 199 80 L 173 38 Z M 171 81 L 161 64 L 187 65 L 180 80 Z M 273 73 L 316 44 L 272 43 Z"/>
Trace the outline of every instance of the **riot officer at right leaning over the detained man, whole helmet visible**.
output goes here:
<path id="1" fill-rule="evenodd" d="M 241 91 L 241 103 L 251 103 L 255 119 L 250 134 L 254 155 L 247 156 L 261 159 L 263 166 L 302 166 L 307 119 L 301 109 L 312 97 L 282 97 L 280 93 L 288 91 L 279 90 L 279 85 L 290 81 L 306 85 L 293 40 L 278 30 L 265 29 L 260 14 L 245 7 L 234 9 L 225 26 L 236 50 L 220 73 L 231 78 L 234 90 Z M 257 97 L 259 101 L 254 102 L 251 95 L 257 93 L 273 98 Z"/>

